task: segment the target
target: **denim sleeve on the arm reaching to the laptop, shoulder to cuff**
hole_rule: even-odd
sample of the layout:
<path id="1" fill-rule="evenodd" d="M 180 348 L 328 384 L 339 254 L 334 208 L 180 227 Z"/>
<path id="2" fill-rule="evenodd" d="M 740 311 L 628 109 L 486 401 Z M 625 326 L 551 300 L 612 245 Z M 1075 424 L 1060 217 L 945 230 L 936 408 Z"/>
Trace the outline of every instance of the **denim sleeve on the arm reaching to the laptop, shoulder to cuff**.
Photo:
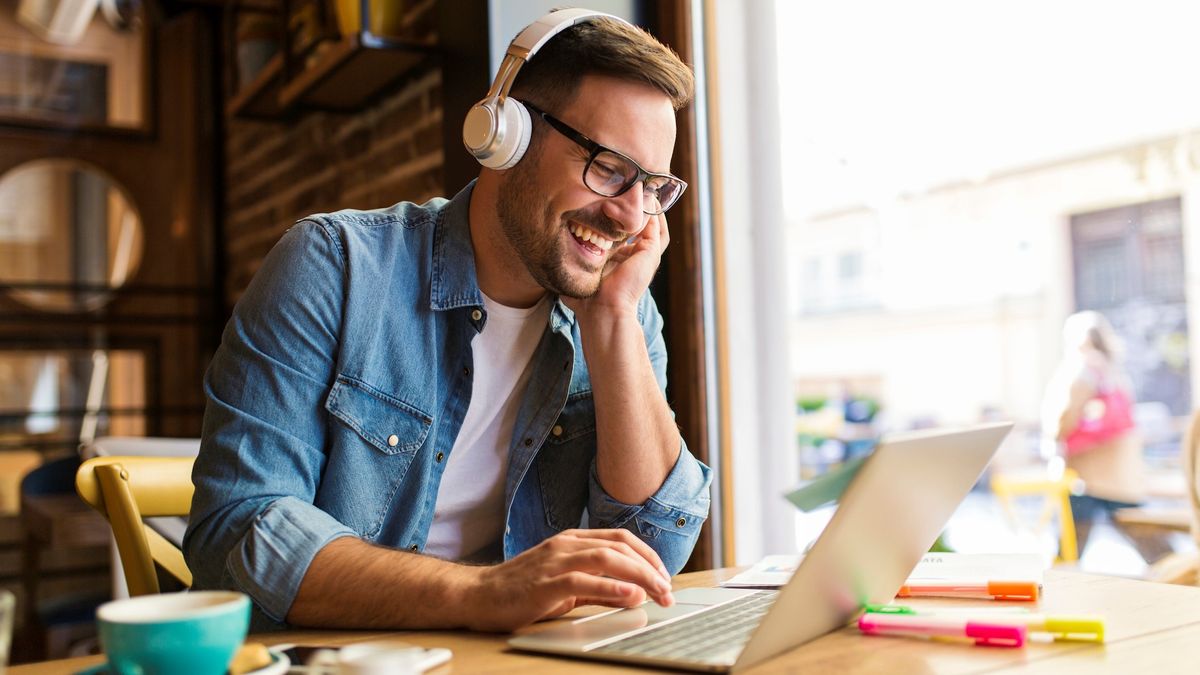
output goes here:
<path id="1" fill-rule="evenodd" d="M 356 533 L 313 504 L 325 466 L 344 262 L 306 221 L 238 301 L 204 378 L 208 406 L 184 554 L 197 589 L 247 593 L 283 621 L 312 562 Z"/>

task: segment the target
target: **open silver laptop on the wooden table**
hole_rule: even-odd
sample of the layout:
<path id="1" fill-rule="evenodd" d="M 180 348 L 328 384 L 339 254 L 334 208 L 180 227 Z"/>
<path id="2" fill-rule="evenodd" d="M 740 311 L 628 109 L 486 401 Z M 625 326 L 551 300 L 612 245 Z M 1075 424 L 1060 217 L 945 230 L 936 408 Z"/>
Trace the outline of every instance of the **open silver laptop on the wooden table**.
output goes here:
<path id="1" fill-rule="evenodd" d="M 512 647 L 724 673 L 749 668 L 887 603 L 991 460 L 1010 423 L 888 436 L 779 591 L 684 589 L 569 623 L 535 626 Z"/>

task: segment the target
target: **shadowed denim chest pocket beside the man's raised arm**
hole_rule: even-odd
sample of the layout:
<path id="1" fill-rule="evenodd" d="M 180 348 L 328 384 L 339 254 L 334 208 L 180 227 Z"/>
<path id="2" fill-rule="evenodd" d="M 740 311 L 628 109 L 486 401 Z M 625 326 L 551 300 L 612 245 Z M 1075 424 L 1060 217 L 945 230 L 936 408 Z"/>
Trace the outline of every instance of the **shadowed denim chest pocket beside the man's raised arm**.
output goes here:
<path id="1" fill-rule="evenodd" d="M 588 506 L 588 473 L 595 454 L 595 406 L 587 392 L 566 401 L 538 452 L 538 482 L 551 527 L 562 531 L 580 526 Z"/>

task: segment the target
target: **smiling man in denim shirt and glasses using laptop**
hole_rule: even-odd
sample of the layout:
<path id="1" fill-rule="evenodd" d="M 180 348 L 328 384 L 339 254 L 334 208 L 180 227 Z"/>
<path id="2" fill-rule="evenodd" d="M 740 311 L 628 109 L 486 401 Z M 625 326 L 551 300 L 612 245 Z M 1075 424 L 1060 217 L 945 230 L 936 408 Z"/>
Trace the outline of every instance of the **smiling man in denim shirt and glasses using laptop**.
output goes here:
<path id="1" fill-rule="evenodd" d="M 664 398 L 647 287 L 691 86 L 643 31 L 575 25 L 516 78 L 512 168 L 284 234 L 205 378 L 197 587 L 248 593 L 259 629 L 672 602 L 710 472 Z"/>

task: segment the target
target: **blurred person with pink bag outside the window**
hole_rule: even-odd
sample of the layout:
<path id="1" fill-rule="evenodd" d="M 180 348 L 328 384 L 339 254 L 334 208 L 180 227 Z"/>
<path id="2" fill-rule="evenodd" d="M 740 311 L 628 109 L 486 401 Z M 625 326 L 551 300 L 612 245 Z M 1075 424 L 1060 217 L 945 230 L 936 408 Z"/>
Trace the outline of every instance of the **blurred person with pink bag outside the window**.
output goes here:
<path id="1" fill-rule="evenodd" d="M 1082 489 L 1070 497 L 1080 555 L 1092 526 L 1108 518 L 1147 563 L 1171 552 L 1166 537 L 1141 532 L 1112 518 L 1146 498 L 1142 440 L 1133 420 L 1133 387 L 1122 368 L 1122 346 L 1096 311 L 1063 323 L 1063 357 L 1043 399 L 1043 431 Z"/>

